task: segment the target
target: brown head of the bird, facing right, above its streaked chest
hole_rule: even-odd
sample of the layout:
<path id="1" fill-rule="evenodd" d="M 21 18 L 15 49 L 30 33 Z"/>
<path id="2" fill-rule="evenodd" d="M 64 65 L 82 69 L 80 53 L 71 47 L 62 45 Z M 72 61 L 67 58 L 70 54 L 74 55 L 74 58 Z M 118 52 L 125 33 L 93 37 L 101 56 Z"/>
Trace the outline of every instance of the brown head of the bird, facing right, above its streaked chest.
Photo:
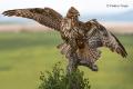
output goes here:
<path id="1" fill-rule="evenodd" d="M 80 12 L 74 8 L 74 7 L 71 7 L 66 13 L 66 18 L 76 18 L 80 16 Z"/>

